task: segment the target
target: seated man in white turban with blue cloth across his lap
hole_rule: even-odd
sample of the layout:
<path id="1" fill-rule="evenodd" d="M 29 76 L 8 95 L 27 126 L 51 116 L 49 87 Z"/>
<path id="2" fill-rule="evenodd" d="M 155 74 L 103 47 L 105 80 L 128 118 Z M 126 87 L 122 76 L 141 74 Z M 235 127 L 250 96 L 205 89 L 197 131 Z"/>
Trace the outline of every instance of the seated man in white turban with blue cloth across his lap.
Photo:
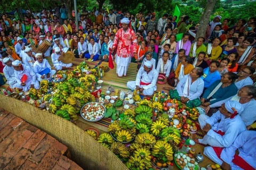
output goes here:
<path id="1" fill-rule="evenodd" d="M 52 70 L 51 65 L 43 58 L 41 53 L 36 54 L 36 62 L 33 69 L 38 81 L 47 80 L 56 73 L 56 70 Z"/>

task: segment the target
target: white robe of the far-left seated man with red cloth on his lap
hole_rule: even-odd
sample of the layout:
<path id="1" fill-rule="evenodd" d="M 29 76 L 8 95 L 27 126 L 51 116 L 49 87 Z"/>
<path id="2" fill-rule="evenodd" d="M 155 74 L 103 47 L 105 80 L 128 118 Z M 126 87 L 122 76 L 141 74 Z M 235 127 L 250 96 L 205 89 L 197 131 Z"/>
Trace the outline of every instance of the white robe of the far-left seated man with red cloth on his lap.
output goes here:
<path id="1" fill-rule="evenodd" d="M 39 82 L 36 80 L 36 74 L 33 71 L 33 68 L 31 68 L 30 66 L 25 65 L 25 64 L 22 64 L 22 66 L 24 69 L 23 71 L 22 70 L 14 71 L 15 79 L 16 79 L 17 83 L 15 83 L 13 85 L 13 87 L 22 89 L 23 91 L 28 91 L 30 89 L 30 85 L 34 84 L 35 89 L 39 89 Z M 24 74 L 27 75 L 28 79 L 25 82 L 26 83 L 25 86 L 21 86 L 21 78 Z"/>

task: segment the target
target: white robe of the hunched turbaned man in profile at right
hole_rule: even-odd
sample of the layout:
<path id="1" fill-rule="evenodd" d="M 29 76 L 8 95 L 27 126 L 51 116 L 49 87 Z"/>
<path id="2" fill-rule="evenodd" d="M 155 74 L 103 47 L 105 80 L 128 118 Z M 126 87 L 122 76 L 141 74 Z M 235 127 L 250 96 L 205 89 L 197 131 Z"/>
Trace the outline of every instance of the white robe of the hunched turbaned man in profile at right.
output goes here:
<path id="1" fill-rule="evenodd" d="M 218 122 L 219 120 L 220 122 Z M 198 122 L 202 129 L 206 124 L 211 125 L 211 130 L 207 132 L 203 139 L 198 139 L 198 141 L 212 147 L 230 147 L 236 137 L 246 131 L 244 122 L 239 115 L 234 118 L 225 118 L 220 111 L 214 113 L 211 117 L 203 114 L 199 115 Z M 215 131 L 225 132 L 225 135 L 221 136 Z"/>

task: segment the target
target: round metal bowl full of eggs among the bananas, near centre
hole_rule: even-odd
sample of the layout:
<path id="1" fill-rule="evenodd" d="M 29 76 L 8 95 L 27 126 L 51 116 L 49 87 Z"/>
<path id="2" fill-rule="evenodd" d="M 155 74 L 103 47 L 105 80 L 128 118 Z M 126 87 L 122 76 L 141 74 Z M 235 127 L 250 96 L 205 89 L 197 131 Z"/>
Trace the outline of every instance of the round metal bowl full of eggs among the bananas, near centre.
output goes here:
<path id="1" fill-rule="evenodd" d="M 82 109 L 85 120 L 98 121 L 105 115 L 105 107 L 97 102 L 86 104 Z"/>

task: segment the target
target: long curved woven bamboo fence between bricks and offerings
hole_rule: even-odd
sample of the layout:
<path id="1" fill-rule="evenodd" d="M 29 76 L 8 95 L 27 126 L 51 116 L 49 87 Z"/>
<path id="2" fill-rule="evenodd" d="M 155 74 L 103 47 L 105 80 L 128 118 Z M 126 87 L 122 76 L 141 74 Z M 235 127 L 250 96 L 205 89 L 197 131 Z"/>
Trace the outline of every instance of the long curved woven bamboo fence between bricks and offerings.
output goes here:
<path id="1" fill-rule="evenodd" d="M 0 95 L 0 100 L 0 107 L 66 145 L 72 160 L 83 169 L 127 169 L 113 152 L 103 147 L 75 124 L 11 97 Z"/>

